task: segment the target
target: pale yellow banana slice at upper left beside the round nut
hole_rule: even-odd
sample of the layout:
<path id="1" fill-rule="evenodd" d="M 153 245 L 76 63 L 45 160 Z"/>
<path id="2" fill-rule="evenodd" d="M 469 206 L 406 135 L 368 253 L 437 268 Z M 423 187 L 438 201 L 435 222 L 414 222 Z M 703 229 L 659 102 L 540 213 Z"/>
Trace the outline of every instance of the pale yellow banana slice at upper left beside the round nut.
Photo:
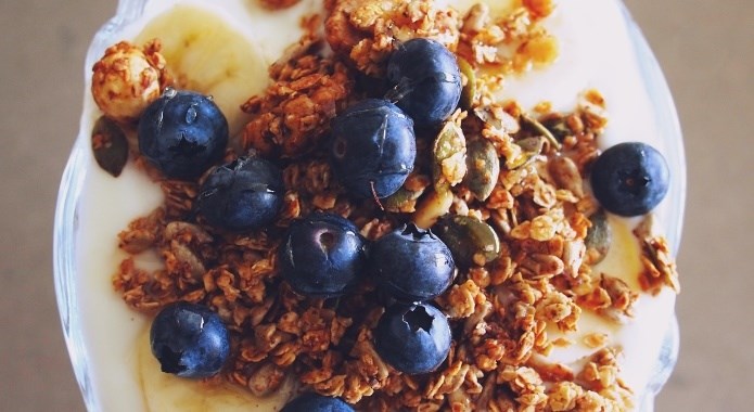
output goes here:
<path id="1" fill-rule="evenodd" d="M 176 5 L 155 16 L 135 39 L 158 38 L 176 87 L 212 95 L 228 118 L 231 136 L 248 121 L 240 106 L 268 83 L 257 44 L 208 9 Z"/>

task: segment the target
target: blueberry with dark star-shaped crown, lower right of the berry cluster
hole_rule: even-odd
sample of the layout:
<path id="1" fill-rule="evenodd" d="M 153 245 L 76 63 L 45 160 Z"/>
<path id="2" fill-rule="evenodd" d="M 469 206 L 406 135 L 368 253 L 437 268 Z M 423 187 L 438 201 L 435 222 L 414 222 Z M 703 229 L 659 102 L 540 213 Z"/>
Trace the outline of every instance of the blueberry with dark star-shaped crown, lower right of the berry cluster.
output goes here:
<path id="1" fill-rule="evenodd" d="M 450 325 L 427 304 L 396 304 L 374 330 L 374 348 L 393 368 L 408 374 L 436 370 L 450 351 Z"/>

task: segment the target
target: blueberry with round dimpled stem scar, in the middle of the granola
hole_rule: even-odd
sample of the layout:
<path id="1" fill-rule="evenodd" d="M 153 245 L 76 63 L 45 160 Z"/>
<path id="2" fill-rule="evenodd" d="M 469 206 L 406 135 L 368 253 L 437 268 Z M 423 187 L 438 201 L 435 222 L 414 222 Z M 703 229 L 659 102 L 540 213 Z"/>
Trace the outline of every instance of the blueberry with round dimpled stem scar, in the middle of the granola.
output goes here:
<path id="1" fill-rule="evenodd" d="M 280 270 L 302 295 L 340 296 L 362 271 L 366 248 L 354 223 L 337 215 L 315 213 L 291 223 L 280 245 Z"/>

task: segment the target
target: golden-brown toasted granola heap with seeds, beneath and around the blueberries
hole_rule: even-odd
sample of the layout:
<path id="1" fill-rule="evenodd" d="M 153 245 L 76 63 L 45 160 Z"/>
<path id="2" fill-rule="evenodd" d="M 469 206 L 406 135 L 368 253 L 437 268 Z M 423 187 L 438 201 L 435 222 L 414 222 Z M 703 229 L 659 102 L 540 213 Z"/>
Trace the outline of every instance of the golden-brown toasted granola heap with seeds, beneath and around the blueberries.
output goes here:
<path id="1" fill-rule="evenodd" d="M 365 411 L 631 409 L 621 348 L 608 336 L 587 335 L 583 344 L 593 352 L 578 370 L 548 360 L 555 346 L 575 344 L 548 336 L 548 325 L 567 336 L 584 311 L 627 322 L 638 298 L 623 280 L 592 271 L 609 247 L 595 232 L 606 223 L 583 179 L 599 155 L 604 102 L 586 91 L 572 113 L 553 113 L 547 104 L 526 113 L 495 99 L 499 75 L 477 76 L 483 66 L 503 67 L 504 76 L 551 62 L 557 43 L 538 22 L 552 8 L 524 1 L 493 21 L 484 5 L 461 16 L 430 0 L 328 1 L 323 24 L 334 54 L 322 51 L 312 30 L 270 68 L 273 82 L 265 93 L 243 107 L 253 116 L 243 151 L 284 160 L 278 220 L 243 234 L 213 229 L 193 213 L 200 182 L 162 179 L 137 160 L 167 201 L 120 233 L 120 248 L 133 256 L 155 250 L 165 265 L 146 271 L 127 258 L 115 288 L 146 313 L 176 300 L 215 310 L 232 336 L 233 359 L 222 376 L 259 396 L 293 376 L 302 387 Z M 323 142 L 330 119 L 379 89 L 369 76 L 384 73 L 394 44 L 411 37 L 434 37 L 457 50 L 470 63 L 463 75 L 473 92 L 440 130 L 419 136 L 413 172 L 396 194 L 381 204 L 354 199 L 330 170 Z M 513 43 L 506 56 L 501 46 Z M 453 331 L 438 370 L 407 375 L 380 358 L 372 333 L 384 299 L 370 282 L 338 299 L 317 299 L 282 281 L 277 256 L 285 229 L 315 210 L 348 218 L 370 241 L 406 221 L 451 234 L 458 221 L 473 222 L 464 227 L 471 232 L 461 232 L 473 235 L 468 242 L 449 244 L 459 271 L 435 299 Z M 650 293 L 677 291 L 667 245 L 650 224 L 635 231 L 644 268 L 640 284 Z"/>

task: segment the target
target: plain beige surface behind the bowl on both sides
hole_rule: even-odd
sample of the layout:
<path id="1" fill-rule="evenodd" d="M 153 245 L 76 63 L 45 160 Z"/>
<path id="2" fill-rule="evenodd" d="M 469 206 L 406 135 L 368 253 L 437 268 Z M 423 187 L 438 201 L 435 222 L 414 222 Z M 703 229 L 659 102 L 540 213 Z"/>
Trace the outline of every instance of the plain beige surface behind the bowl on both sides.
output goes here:
<path id="1" fill-rule="evenodd" d="M 563 0 L 567 1 L 567 0 Z M 754 3 L 627 0 L 686 136 L 681 357 L 659 411 L 751 411 Z M 0 0 L 0 411 L 82 411 L 52 286 L 52 217 L 84 55 L 115 0 Z"/>

